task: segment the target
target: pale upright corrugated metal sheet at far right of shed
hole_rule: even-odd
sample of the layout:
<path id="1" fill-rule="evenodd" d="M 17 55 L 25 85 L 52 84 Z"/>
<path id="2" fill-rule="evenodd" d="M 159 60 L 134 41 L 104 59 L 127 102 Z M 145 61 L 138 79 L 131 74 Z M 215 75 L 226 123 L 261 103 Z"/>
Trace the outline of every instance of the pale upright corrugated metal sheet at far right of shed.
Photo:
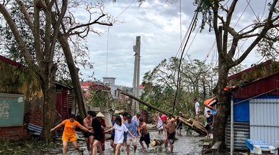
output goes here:
<path id="1" fill-rule="evenodd" d="M 266 140 L 276 147 L 279 140 L 279 98 L 257 98 L 249 102 L 250 138 Z"/>

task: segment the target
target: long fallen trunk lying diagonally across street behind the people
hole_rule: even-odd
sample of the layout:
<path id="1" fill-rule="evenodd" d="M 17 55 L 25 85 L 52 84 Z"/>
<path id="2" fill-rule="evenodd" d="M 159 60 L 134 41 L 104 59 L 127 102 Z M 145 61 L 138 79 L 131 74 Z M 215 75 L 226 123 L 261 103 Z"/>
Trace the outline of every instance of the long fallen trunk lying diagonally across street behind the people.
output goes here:
<path id="1" fill-rule="evenodd" d="M 130 98 L 133 98 L 134 100 L 138 101 L 139 103 L 142 103 L 143 105 L 146 105 L 148 108 L 151 108 L 153 110 L 156 110 L 158 112 L 161 112 L 165 115 L 171 116 L 172 114 L 170 112 L 165 112 L 154 105 L 151 105 L 150 103 L 146 103 L 145 101 L 142 101 L 140 98 L 137 98 L 131 94 L 128 94 L 125 91 L 122 91 L 121 89 L 117 89 L 121 94 L 126 95 Z M 179 121 L 181 121 L 183 124 L 185 124 L 188 128 L 196 131 L 199 133 L 199 135 L 207 135 L 206 129 L 204 128 L 204 125 L 197 123 L 196 121 L 193 121 L 192 119 L 185 119 L 182 117 L 179 117 Z"/>

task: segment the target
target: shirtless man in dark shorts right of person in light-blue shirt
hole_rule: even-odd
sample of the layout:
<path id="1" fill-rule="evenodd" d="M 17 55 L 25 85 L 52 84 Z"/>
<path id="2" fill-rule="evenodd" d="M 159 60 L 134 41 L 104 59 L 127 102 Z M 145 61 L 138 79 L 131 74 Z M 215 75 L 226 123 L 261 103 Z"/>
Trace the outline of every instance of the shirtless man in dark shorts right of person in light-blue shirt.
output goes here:
<path id="1" fill-rule="evenodd" d="M 142 145 L 142 149 L 145 149 L 144 147 L 144 143 L 142 141 L 145 142 L 147 149 L 149 148 L 149 144 L 150 144 L 150 135 L 149 135 L 149 131 L 147 128 L 146 123 L 144 122 L 144 119 L 142 117 L 140 117 L 140 124 L 139 124 L 139 128 L 138 128 L 138 132 L 139 132 L 139 136 L 140 136 L 140 145 Z"/>

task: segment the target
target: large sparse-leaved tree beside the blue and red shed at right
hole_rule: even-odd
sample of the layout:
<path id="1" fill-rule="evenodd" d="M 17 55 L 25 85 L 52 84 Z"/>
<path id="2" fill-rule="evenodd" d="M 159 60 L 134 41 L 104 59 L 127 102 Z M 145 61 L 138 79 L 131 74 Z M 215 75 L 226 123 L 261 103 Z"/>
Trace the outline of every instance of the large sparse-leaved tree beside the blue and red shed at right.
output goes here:
<path id="1" fill-rule="evenodd" d="M 195 0 L 197 12 L 202 14 L 202 28 L 209 26 L 216 37 L 218 50 L 218 83 L 213 93 L 218 97 L 218 114 L 213 124 L 214 141 L 225 141 L 225 124 L 229 115 L 229 101 L 224 87 L 227 85 L 229 70 L 241 64 L 248 54 L 259 45 L 264 55 L 275 55 L 278 33 L 278 0 L 269 1 L 269 12 L 266 17 L 251 21 L 247 27 L 236 29 L 232 19 L 236 4 L 239 1 Z M 272 34 L 272 36 L 271 36 Z M 238 57 L 238 45 L 246 39 L 252 40 L 250 45 Z M 276 56 L 275 56 L 276 57 Z"/>

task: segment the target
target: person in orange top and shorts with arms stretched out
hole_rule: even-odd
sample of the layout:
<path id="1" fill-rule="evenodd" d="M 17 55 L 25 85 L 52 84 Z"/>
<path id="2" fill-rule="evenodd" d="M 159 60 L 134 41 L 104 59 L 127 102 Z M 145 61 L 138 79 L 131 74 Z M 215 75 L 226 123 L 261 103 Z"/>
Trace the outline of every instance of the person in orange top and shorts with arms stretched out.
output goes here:
<path id="1" fill-rule="evenodd" d="M 73 147 L 82 154 L 80 151 L 80 147 L 77 145 L 77 137 L 75 136 L 75 128 L 79 127 L 82 130 L 86 132 L 91 132 L 92 130 L 89 130 L 88 128 L 85 128 L 84 126 L 80 125 L 79 122 L 75 121 L 75 115 L 70 115 L 70 119 L 66 119 L 61 122 L 61 124 L 58 124 L 54 128 L 50 129 L 50 132 L 54 131 L 56 128 L 59 128 L 61 126 L 64 126 L 62 140 L 63 140 L 63 155 L 67 154 L 67 147 L 68 147 L 68 141 L 72 142 Z"/>

